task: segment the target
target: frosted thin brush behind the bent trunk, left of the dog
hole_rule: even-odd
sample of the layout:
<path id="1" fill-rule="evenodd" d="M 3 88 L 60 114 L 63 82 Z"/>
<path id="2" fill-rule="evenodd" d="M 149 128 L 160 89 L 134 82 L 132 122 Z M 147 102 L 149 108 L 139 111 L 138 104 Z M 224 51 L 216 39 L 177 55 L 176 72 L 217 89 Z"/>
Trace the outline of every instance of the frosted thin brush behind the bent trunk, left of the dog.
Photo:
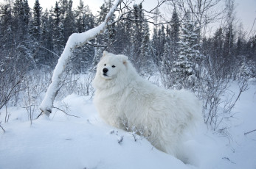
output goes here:
<path id="1" fill-rule="evenodd" d="M 2 74 L 1 74 L 2 75 Z M 7 76 L 7 75 L 6 75 Z M 32 122 L 40 114 L 39 106 L 44 97 L 47 87 L 51 82 L 52 70 L 44 67 L 41 69 L 31 70 L 24 73 L 23 76 L 16 76 L 16 80 L 13 81 L 12 76 L 9 79 L 6 78 L 6 83 L 3 81 L 0 83 L 0 109 L 5 107 L 4 112 L 1 113 L 4 122 L 7 123 L 11 112 L 8 111 L 8 107 L 18 106 L 23 107 L 27 111 L 27 120 Z M 66 96 L 75 93 L 80 96 L 93 95 L 94 90 L 91 87 L 91 81 L 94 77 L 94 72 L 91 71 L 88 74 L 74 74 L 73 71 L 68 69 L 60 81 L 60 88 L 58 90 L 58 100 L 62 100 Z M 4 78 L 4 76 L 2 77 Z M 7 84 L 9 82 L 9 84 Z M 63 108 L 64 107 L 64 108 Z M 66 105 L 63 104 L 62 112 L 66 113 Z M 58 109 L 58 107 L 55 107 Z"/>

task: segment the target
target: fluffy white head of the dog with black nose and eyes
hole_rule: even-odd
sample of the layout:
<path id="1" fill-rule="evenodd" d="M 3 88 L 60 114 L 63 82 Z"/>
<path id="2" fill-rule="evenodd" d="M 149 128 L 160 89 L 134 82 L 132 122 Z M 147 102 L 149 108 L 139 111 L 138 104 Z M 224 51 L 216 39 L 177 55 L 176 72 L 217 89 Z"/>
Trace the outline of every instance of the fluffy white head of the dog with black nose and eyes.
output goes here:
<path id="1" fill-rule="evenodd" d="M 115 79 L 120 73 L 126 71 L 127 62 L 128 57 L 125 55 L 115 55 L 103 51 L 103 57 L 97 65 L 97 75 L 100 75 L 105 80 Z"/>

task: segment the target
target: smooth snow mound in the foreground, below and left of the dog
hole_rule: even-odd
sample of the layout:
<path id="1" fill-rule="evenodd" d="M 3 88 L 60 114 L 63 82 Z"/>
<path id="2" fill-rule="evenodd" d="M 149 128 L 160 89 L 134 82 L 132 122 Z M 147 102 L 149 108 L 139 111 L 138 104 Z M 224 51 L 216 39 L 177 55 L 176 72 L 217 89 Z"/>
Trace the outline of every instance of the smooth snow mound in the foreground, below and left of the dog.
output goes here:
<path id="1" fill-rule="evenodd" d="M 1 134 L 0 168 L 188 168 L 131 133 L 107 126 L 88 97 L 71 95 L 70 114 L 10 122 Z M 20 112 L 19 112 L 20 113 Z M 25 115 L 25 114 L 24 114 Z"/>

